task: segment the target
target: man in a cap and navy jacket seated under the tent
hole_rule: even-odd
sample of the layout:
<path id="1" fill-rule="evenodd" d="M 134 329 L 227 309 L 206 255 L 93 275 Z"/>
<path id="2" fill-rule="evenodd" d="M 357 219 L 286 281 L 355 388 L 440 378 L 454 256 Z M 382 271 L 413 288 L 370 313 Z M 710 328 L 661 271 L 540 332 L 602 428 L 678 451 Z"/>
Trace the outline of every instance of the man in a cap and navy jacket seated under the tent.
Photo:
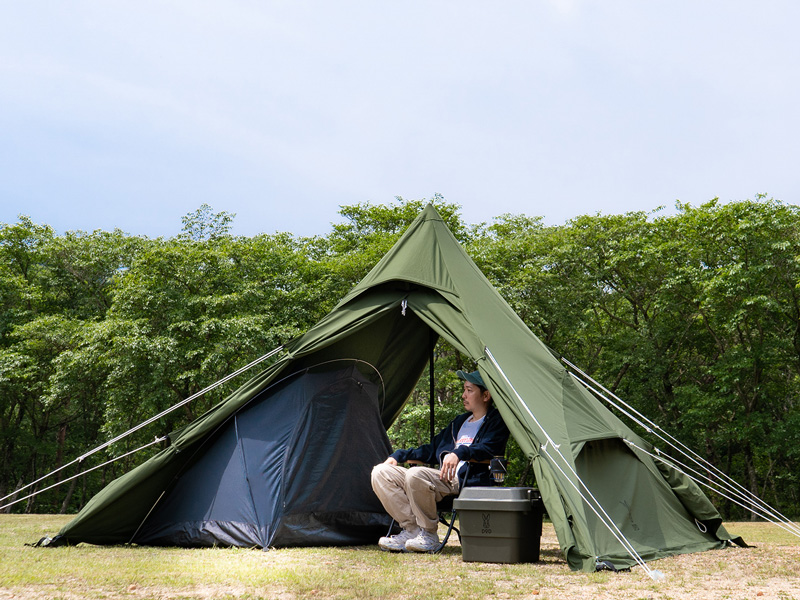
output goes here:
<path id="1" fill-rule="evenodd" d="M 466 413 L 459 415 L 434 438 L 433 444 L 397 450 L 372 469 L 372 489 L 386 512 L 403 528 L 397 535 L 382 537 L 382 550 L 428 552 L 439 544 L 436 503 L 456 495 L 465 486 L 491 485 L 488 461 L 505 454 L 508 428 L 492 406 L 492 395 L 478 371 L 458 371 L 464 381 Z M 398 466 L 409 460 L 439 464 L 439 469 Z M 470 465 L 467 461 L 486 461 Z"/>

